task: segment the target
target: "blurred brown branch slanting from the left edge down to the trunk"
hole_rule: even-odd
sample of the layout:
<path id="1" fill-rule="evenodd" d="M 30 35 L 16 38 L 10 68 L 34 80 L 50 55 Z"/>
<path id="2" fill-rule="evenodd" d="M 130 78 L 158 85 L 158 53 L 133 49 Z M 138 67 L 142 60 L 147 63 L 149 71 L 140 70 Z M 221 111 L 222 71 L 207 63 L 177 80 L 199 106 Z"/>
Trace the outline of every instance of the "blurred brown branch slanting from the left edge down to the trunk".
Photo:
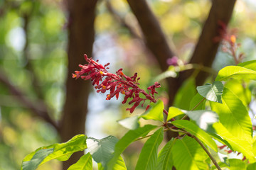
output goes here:
<path id="1" fill-rule="evenodd" d="M 11 82 L 7 79 L 2 70 L 0 72 L 0 83 L 6 85 L 11 94 L 15 95 L 18 101 L 23 104 L 23 106 L 29 108 L 35 115 L 43 118 L 43 120 L 46 120 L 46 122 L 50 123 L 50 125 L 53 125 L 56 130 L 59 130 L 58 125 L 48 115 L 46 106 L 44 104 L 38 106 L 38 104 L 33 103 L 26 96 L 23 96 L 22 92 L 17 89 L 13 84 L 11 84 Z"/>

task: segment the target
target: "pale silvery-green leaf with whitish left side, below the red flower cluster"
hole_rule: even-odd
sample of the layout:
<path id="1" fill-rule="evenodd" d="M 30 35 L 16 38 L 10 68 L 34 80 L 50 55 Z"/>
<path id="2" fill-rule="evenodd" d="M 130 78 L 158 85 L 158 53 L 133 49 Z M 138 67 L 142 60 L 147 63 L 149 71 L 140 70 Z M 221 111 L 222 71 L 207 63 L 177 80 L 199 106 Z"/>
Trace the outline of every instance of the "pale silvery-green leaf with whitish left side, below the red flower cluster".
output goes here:
<path id="1" fill-rule="evenodd" d="M 106 166 L 107 162 L 112 158 L 114 145 L 116 145 L 118 139 L 114 136 L 108 136 L 101 140 L 88 137 L 86 142 L 88 150 L 95 162 L 101 163 L 102 166 Z"/>

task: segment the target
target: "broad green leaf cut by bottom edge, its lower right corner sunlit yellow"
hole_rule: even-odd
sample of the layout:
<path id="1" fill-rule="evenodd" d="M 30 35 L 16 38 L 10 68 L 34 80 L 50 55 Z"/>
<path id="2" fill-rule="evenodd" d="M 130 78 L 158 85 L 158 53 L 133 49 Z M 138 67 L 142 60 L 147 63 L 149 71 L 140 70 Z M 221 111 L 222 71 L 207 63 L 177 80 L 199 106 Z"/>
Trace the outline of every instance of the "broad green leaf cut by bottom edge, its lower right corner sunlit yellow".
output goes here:
<path id="1" fill-rule="evenodd" d="M 171 155 L 177 170 L 208 169 L 208 162 L 206 162 L 208 155 L 191 137 L 186 136 L 176 140 L 171 149 Z"/>

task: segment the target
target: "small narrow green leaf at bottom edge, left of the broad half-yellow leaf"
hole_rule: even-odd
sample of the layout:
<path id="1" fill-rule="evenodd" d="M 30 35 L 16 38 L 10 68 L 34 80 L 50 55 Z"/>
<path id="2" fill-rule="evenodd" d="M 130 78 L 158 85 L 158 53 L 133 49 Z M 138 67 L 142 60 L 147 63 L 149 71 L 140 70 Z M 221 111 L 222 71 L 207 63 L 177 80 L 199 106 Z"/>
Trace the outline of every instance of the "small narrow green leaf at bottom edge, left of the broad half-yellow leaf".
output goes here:
<path id="1" fill-rule="evenodd" d="M 157 166 L 156 169 L 158 170 L 171 170 L 174 162 L 171 157 L 171 148 L 174 146 L 174 138 L 169 140 L 166 145 L 161 149 L 159 152 L 159 156 L 157 158 Z"/>

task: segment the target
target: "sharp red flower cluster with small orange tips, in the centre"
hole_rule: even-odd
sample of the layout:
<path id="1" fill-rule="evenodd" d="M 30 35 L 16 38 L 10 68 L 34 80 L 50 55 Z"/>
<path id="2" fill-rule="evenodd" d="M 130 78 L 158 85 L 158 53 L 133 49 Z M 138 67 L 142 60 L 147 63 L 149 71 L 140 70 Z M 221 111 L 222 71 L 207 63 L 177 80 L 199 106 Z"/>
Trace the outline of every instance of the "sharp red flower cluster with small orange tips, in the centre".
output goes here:
<path id="1" fill-rule="evenodd" d="M 92 58 L 88 58 L 87 55 L 85 56 L 85 60 L 88 64 L 79 65 L 81 67 L 80 71 L 75 71 L 73 74 L 73 78 L 78 79 L 91 79 L 92 85 L 95 86 L 97 89 L 97 93 L 104 94 L 106 91 L 110 91 L 110 94 L 107 94 L 107 100 L 110 100 L 114 96 L 116 98 L 119 97 L 119 94 L 124 94 L 124 101 L 122 103 L 126 103 L 128 98 L 132 98 L 132 101 L 129 101 L 129 104 L 133 104 L 132 108 L 127 108 L 127 111 L 133 113 L 134 109 L 139 106 L 140 103 L 145 103 L 146 100 L 150 102 L 156 103 L 154 98 L 154 94 L 157 94 L 156 88 L 160 87 L 158 82 L 155 82 L 154 85 L 149 86 L 149 94 L 146 93 L 143 89 L 139 89 L 137 73 L 134 74 L 133 77 L 127 77 L 123 72 L 122 69 L 117 71 L 117 74 L 112 74 L 107 71 L 109 69 L 107 66 L 110 63 L 102 64 L 98 63 L 98 60 L 92 60 Z M 139 94 L 143 94 L 145 98 L 141 98 Z M 149 106 L 146 107 L 148 109 Z"/>

